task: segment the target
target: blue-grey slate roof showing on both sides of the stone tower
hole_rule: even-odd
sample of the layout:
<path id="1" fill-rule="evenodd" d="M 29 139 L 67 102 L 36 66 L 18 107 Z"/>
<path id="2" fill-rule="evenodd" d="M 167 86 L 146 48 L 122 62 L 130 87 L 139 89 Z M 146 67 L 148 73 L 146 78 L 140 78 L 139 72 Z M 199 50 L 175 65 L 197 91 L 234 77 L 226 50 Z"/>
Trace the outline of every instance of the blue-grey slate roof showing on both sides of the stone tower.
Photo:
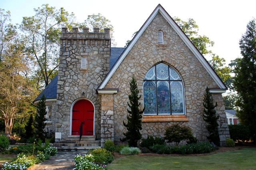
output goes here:
<path id="1" fill-rule="evenodd" d="M 123 53 L 125 48 L 121 47 L 112 47 L 110 48 L 110 69 L 114 66 L 117 59 Z M 46 88 L 39 94 L 39 96 L 34 100 L 40 100 L 40 98 L 45 96 L 46 99 L 56 99 L 57 98 L 57 83 L 58 83 L 58 75 L 55 76 L 52 81 L 46 86 Z"/>

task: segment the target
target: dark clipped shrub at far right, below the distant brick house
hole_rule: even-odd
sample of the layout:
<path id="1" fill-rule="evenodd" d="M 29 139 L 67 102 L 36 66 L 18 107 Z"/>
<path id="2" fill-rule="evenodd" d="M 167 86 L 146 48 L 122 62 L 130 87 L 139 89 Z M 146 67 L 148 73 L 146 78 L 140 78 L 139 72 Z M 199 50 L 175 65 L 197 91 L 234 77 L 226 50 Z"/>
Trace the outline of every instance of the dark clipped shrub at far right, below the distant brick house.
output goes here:
<path id="1" fill-rule="evenodd" d="M 228 125 L 230 138 L 234 141 L 248 141 L 250 139 L 250 129 L 246 125 Z"/>

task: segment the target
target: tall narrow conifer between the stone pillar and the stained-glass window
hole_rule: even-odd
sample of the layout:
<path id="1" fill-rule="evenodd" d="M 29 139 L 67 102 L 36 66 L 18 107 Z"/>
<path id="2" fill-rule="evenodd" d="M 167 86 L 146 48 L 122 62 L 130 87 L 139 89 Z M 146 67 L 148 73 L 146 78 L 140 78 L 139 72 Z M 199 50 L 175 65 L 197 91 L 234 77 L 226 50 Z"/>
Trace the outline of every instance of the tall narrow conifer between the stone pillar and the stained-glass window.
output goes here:
<path id="1" fill-rule="evenodd" d="M 144 109 L 139 109 L 141 95 L 138 96 L 139 90 L 134 76 L 132 76 L 130 81 L 130 91 L 131 93 L 128 96 L 130 104 L 127 102 L 130 110 L 127 109 L 127 123 L 123 122 L 127 132 L 124 133 L 125 138 L 123 140 L 126 140 L 130 147 L 137 147 L 137 142 L 142 137 L 140 130 L 142 129 L 141 118 Z"/>

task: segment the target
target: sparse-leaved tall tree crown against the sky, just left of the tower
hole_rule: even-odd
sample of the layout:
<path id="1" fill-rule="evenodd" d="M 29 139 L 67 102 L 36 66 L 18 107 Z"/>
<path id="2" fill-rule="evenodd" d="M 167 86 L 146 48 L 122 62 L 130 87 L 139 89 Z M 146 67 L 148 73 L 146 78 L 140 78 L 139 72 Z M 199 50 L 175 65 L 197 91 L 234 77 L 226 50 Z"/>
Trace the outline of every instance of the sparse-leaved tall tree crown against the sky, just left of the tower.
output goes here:
<path id="1" fill-rule="evenodd" d="M 28 37 L 26 50 L 36 62 L 38 81 L 42 78 L 47 86 L 58 68 L 61 26 L 71 27 L 74 14 L 48 4 L 34 8 L 34 12 L 34 16 L 23 17 L 20 27 Z"/>

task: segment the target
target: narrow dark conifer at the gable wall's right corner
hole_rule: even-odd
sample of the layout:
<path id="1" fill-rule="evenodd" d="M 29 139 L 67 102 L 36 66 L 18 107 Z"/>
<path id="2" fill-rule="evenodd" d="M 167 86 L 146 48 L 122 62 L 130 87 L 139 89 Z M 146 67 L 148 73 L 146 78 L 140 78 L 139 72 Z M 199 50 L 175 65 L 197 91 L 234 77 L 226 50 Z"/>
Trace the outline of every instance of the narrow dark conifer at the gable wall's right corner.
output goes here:
<path id="1" fill-rule="evenodd" d="M 216 115 L 215 107 L 217 106 L 217 102 L 214 105 L 212 94 L 210 93 L 209 88 L 206 88 L 205 94 L 204 94 L 204 114 L 203 118 L 204 121 L 206 121 L 206 129 L 208 130 L 208 137 L 207 139 L 210 142 L 213 142 L 215 145 L 220 146 L 220 137 L 218 133 L 218 122 L 219 116 Z"/>

